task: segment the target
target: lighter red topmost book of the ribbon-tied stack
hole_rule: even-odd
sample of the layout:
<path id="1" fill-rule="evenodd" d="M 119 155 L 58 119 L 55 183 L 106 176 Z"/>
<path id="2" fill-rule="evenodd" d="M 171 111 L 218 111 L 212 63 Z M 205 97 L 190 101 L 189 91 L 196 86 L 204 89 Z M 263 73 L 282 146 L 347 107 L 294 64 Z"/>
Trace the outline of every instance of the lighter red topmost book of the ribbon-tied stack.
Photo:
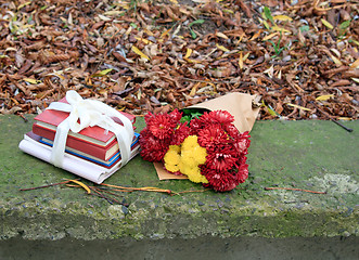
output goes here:
<path id="1" fill-rule="evenodd" d="M 66 98 L 63 98 L 59 102 L 67 103 Z M 136 116 L 130 115 L 125 112 L 119 112 L 124 116 L 126 116 L 132 123 L 136 121 Z M 46 109 L 38 116 L 36 116 L 34 119 L 38 121 L 43 127 L 47 127 L 49 129 L 56 130 L 56 127 L 68 117 L 69 113 L 61 112 L 61 110 L 54 110 L 54 109 Z M 116 122 L 121 123 L 121 121 L 118 118 L 113 118 Z M 101 146 L 106 146 L 111 142 L 114 141 L 115 134 L 111 131 L 105 131 L 103 128 L 94 126 L 94 127 L 88 127 L 82 129 L 77 133 L 78 139 L 84 139 L 88 142 L 95 143 Z"/>

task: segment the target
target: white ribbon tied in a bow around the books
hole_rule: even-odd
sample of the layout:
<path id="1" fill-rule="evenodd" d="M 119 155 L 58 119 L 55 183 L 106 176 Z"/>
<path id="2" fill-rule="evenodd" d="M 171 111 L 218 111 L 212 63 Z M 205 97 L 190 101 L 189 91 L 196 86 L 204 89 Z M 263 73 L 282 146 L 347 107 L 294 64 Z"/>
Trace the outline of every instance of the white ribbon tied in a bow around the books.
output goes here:
<path id="1" fill-rule="evenodd" d="M 79 132 L 87 127 L 99 126 L 104 131 L 115 133 L 119 146 L 121 164 L 125 165 L 130 158 L 131 143 L 133 139 L 133 127 L 126 116 L 115 108 L 95 100 L 84 100 L 76 91 L 66 92 L 68 104 L 53 102 L 48 109 L 69 113 L 68 117 L 59 126 L 53 141 L 50 162 L 62 167 L 68 131 Z M 117 117 L 124 126 L 115 122 L 112 117 Z M 80 119 L 80 123 L 78 123 Z"/>

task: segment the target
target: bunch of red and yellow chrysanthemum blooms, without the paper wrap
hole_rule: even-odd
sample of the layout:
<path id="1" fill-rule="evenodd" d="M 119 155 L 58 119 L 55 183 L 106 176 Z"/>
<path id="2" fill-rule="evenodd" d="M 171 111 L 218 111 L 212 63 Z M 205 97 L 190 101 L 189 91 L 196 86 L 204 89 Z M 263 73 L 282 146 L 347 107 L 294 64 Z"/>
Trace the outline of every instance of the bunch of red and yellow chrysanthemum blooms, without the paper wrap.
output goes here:
<path id="1" fill-rule="evenodd" d="M 167 171 L 218 192 L 231 191 L 247 179 L 249 134 L 239 132 L 229 112 L 175 109 L 144 118 L 143 159 L 162 161 Z"/>

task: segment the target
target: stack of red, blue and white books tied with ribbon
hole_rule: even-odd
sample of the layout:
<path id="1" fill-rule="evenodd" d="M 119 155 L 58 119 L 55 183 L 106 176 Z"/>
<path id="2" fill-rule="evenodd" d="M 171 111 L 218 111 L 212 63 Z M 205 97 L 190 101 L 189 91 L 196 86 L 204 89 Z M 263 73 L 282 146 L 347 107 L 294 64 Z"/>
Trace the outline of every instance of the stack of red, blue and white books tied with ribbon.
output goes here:
<path id="1" fill-rule="evenodd" d="M 64 98 L 60 102 L 66 103 L 66 99 Z M 119 113 L 130 119 L 132 125 L 134 123 L 136 117 L 133 115 Z M 20 148 L 50 162 L 56 128 L 68 115 L 69 113 L 66 112 L 46 109 L 36 116 L 33 131 L 24 135 L 18 145 Z M 118 118 L 113 119 L 121 125 Z M 134 132 L 130 158 L 134 157 L 140 151 L 139 135 Z M 120 151 L 116 135 L 113 132 L 98 126 L 85 128 L 78 133 L 68 132 L 63 169 L 94 183 L 102 183 L 120 167 L 123 167 Z"/>

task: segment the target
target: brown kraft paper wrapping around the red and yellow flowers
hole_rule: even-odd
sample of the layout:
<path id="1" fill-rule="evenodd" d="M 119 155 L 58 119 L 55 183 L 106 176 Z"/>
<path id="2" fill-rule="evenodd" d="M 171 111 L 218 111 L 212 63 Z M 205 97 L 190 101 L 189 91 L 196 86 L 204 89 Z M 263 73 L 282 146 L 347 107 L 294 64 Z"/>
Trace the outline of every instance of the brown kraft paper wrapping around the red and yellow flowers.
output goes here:
<path id="1" fill-rule="evenodd" d="M 259 113 L 259 107 L 252 105 L 255 95 L 230 93 L 187 108 L 205 108 L 208 110 L 227 110 L 234 117 L 233 125 L 243 133 L 251 131 Z M 162 162 L 154 164 L 159 180 L 187 179 L 185 176 L 175 176 L 165 170 Z"/>

